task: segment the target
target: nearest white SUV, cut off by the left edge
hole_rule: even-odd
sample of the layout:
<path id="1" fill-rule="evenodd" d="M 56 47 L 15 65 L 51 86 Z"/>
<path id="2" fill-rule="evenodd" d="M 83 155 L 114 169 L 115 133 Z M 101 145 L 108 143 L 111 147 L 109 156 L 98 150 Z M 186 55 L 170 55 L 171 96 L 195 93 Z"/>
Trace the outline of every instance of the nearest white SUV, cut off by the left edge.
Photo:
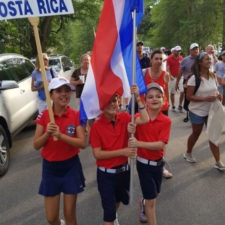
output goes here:
<path id="1" fill-rule="evenodd" d="M 37 114 L 37 93 L 31 91 L 33 70 L 22 55 L 0 54 L 0 176 L 9 167 L 12 137 Z"/>

